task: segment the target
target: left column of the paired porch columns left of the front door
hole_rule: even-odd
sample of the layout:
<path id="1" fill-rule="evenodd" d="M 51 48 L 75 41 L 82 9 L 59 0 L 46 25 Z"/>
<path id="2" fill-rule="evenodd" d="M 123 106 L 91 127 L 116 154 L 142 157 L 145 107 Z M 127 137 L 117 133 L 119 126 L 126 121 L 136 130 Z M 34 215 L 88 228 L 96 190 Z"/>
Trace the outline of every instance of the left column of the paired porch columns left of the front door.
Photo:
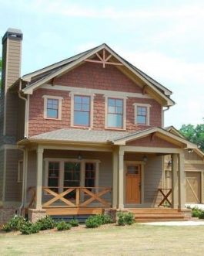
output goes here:
<path id="1" fill-rule="evenodd" d="M 118 204 L 118 172 L 119 172 L 119 153 L 112 153 L 112 208 L 117 208 Z"/>

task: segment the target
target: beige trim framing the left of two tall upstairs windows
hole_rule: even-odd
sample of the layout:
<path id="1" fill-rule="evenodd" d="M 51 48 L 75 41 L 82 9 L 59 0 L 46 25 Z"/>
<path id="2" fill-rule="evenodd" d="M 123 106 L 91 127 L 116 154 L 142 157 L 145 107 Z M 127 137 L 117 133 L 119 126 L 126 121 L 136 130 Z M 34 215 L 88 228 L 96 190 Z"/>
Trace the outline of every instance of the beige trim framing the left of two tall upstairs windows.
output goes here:
<path id="1" fill-rule="evenodd" d="M 90 123 L 89 126 L 82 126 L 82 125 L 75 125 L 74 124 L 74 98 L 75 96 L 89 96 L 90 97 Z M 93 128 L 93 101 L 94 101 L 94 96 L 95 94 L 88 94 L 88 93 L 82 93 L 82 92 L 70 92 L 69 96 L 71 97 L 71 117 L 70 117 L 70 122 L 71 122 L 71 127 L 77 127 L 77 128 Z"/>

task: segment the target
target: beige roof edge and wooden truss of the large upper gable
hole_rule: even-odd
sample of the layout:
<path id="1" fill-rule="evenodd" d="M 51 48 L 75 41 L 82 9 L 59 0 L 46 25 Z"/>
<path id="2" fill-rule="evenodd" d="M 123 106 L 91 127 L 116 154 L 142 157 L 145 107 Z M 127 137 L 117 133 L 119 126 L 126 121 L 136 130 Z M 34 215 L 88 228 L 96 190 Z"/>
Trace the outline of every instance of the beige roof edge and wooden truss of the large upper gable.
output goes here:
<path id="1" fill-rule="evenodd" d="M 34 80 L 32 82 L 31 77 L 30 84 L 23 88 L 22 92 L 24 94 L 32 94 L 33 90 L 35 90 L 37 87 L 42 86 L 43 84 L 47 84 L 55 77 L 61 77 L 63 74 L 69 72 L 75 67 L 79 67 L 82 65 L 82 63 L 87 62 L 92 62 L 96 65 L 101 64 L 104 68 L 108 65 L 114 65 L 119 70 L 121 70 L 122 73 L 124 73 L 130 79 L 134 80 L 135 84 L 142 87 L 144 94 L 149 94 L 151 97 L 155 98 L 159 104 L 162 104 L 163 106 L 172 106 L 174 104 L 174 102 L 169 98 L 169 95 L 171 94 L 170 90 L 166 89 L 166 87 L 163 87 L 155 80 L 152 80 L 151 77 L 148 77 L 145 73 L 142 73 L 141 70 L 138 70 L 132 64 L 122 59 L 121 56 L 115 53 L 106 44 L 102 44 L 101 46 L 95 47 L 94 49 L 79 55 L 79 58 L 75 58 L 73 61 L 67 64 L 64 62 L 62 67 L 58 67 L 52 70 L 52 72 L 48 73 L 48 75 L 45 77 L 41 76 L 41 73 L 38 73 L 40 79 Z M 46 72 L 48 72 L 48 70 L 46 70 Z"/>

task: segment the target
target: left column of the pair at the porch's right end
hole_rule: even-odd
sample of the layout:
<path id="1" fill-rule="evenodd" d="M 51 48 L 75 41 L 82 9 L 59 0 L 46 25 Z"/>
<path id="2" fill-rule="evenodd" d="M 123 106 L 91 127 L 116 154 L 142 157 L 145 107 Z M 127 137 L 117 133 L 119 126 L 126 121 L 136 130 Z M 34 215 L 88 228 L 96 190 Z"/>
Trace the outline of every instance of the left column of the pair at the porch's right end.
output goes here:
<path id="1" fill-rule="evenodd" d="M 178 208 L 178 155 L 172 154 L 172 208 Z"/>

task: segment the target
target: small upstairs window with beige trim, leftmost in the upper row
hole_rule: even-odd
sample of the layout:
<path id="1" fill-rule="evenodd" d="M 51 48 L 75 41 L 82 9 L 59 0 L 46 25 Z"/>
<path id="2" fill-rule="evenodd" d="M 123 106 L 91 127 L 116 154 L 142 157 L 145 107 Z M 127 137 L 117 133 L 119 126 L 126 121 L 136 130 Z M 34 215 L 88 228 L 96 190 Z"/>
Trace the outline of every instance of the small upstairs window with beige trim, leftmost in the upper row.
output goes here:
<path id="1" fill-rule="evenodd" d="M 62 118 L 62 97 L 44 95 L 44 118 Z"/>

